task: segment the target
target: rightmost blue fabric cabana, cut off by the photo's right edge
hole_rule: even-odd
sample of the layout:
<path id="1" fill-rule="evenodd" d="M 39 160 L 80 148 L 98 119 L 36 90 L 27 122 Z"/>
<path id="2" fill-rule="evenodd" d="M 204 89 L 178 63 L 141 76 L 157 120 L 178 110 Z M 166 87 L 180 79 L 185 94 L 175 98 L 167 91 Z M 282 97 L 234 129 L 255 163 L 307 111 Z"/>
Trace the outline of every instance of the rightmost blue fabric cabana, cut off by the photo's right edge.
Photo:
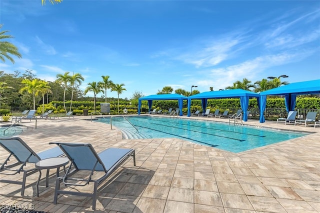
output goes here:
<path id="1" fill-rule="evenodd" d="M 298 94 L 320 93 L 320 79 L 289 83 L 280 87 L 260 92 L 260 122 L 264 122 L 263 111 L 266 105 L 266 95 L 284 95 L 284 103 L 287 111 L 293 111 L 295 98 Z"/>

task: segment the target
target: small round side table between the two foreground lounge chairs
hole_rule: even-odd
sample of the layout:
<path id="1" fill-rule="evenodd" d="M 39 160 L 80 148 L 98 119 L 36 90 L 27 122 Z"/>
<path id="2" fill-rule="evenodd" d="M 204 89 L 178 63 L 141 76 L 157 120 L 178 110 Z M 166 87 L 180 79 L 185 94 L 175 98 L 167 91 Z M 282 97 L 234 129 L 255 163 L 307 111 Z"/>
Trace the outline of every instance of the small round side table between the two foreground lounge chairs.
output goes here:
<path id="1" fill-rule="evenodd" d="M 67 157 L 50 157 L 43 160 L 39 160 L 35 163 L 35 167 L 39 169 L 39 177 L 38 181 L 36 182 L 36 195 L 39 196 L 39 181 L 41 178 L 41 169 L 47 169 L 46 170 L 46 176 L 45 176 L 45 187 L 48 187 L 49 185 L 49 169 L 50 168 L 56 168 L 56 177 L 59 176 L 59 171 L 61 166 L 65 166 L 68 164 L 69 159 Z"/>

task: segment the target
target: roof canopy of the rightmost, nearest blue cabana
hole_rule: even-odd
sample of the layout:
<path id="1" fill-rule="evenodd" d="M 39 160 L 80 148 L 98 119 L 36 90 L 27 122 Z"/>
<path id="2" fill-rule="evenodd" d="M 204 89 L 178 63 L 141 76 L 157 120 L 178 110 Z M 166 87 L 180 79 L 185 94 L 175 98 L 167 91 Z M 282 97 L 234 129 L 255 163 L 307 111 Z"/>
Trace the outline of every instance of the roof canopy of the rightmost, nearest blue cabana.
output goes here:
<path id="1" fill-rule="evenodd" d="M 320 79 L 289 83 L 277 88 L 260 92 L 260 95 L 284 95 L 284 94 L 314 94 L 320 93 Z"/>

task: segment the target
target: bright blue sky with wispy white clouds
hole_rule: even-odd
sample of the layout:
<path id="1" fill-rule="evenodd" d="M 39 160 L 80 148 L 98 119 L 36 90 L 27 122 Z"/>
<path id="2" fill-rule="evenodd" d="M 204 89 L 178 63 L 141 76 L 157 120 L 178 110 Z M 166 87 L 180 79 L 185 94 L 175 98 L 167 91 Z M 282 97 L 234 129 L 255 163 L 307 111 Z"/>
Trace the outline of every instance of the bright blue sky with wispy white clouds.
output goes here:
<path id="1" fill-rule="evenodd" d="M 0 23 L 22 54 L 0 70 L 50 81 L 78 72 L 83 90 L 109 75 L 125 84 L 121 98 L 244 77 L 320 78 L 320 1 L 1 0 Z"/>

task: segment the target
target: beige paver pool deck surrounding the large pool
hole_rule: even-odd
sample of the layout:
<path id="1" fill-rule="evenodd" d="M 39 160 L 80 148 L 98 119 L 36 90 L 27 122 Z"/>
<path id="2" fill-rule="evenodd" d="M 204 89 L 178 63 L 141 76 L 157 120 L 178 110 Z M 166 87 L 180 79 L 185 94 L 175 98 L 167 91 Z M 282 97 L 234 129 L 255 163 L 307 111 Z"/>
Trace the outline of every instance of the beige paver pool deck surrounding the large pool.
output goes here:
<path id="1" fill-rule="evenodd" d="M 34 120 L 23 120 L 28 130 L 19 137 L 36 152 L 53 147 L 48 144 L 53 141 L 91 143 L 97 152 L 134 148 L 136 166 L 129 158 L 102 184 L 96 212 L 320 212 L 320 127 L 248 120 L 244 123 L 315 133 L 232 153 L 176 138 L 122 139 L 120 131 L 88 118 L 38 119 L 36 129 Z M 6 156 L 0 147 L 1 163 Z M 27 177 L 24 196 L 20 185 L 0 183 L 0 204 L 46 212 L 92 211 L 91 199 L 81 196 L 59 195 L 53 204 L 54 174 L 51 169 L 47 188 L 41 179 L 38 197 L 38 172 Z"/>

